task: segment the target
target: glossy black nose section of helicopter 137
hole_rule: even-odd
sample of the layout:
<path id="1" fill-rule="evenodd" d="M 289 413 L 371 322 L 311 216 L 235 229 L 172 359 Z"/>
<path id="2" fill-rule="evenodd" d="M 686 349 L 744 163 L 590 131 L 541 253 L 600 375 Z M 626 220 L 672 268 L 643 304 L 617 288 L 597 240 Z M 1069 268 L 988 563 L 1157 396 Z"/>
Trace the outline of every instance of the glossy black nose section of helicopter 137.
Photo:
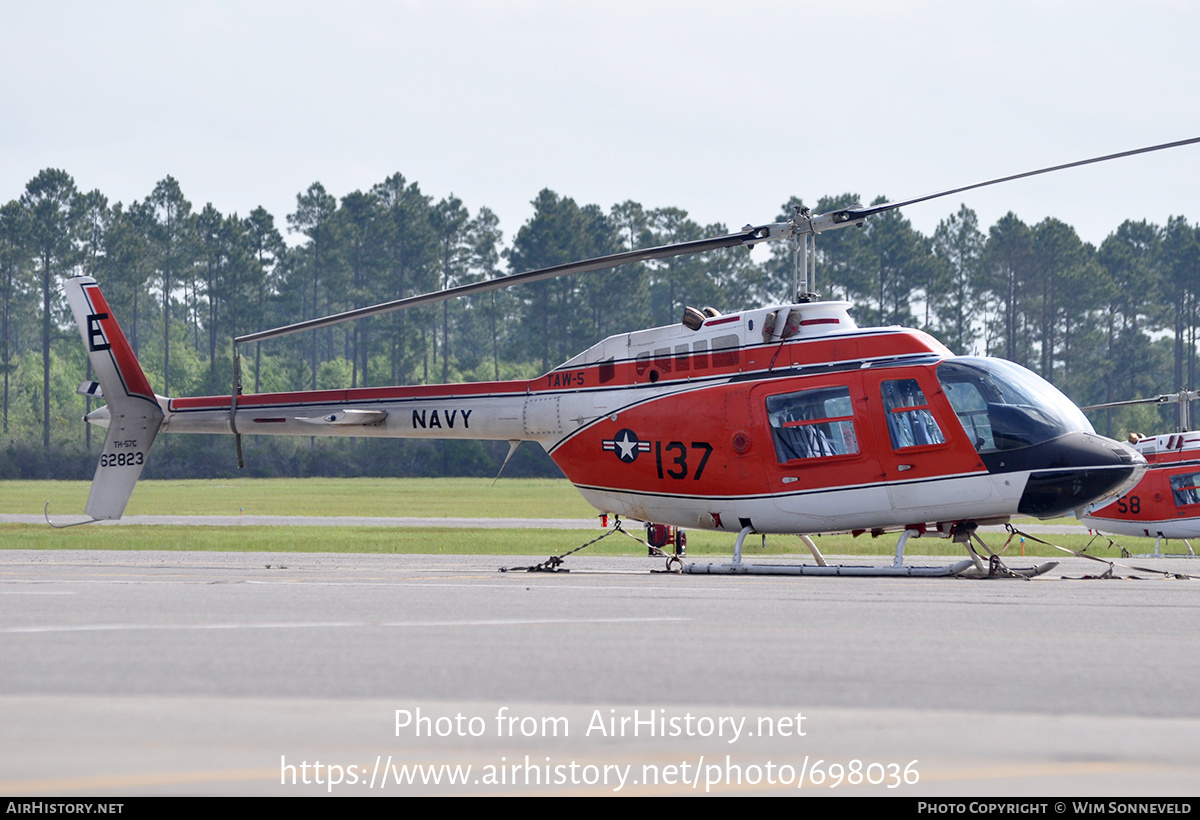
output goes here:
<path id="1" fill-rule="evenodd" d="M 1018 510 L 1052 519 L 1116 495 L 1146 472 L 1146 460 L 1133 448 L 1086 432 L 982 456 L 989 472 L 1030 471 Z"/>

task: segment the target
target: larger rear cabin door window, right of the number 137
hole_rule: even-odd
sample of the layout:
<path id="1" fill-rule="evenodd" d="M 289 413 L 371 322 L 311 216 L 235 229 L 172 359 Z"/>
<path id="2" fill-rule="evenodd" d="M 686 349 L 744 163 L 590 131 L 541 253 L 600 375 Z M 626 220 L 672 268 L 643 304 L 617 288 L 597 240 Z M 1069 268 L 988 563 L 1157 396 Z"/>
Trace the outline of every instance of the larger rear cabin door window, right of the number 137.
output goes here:
<path id="1" fill-rule="evenodd" d="M 850 388 L 785 393 L 767 399 L 767 418 L 780 463 L 858 453 Z"/>

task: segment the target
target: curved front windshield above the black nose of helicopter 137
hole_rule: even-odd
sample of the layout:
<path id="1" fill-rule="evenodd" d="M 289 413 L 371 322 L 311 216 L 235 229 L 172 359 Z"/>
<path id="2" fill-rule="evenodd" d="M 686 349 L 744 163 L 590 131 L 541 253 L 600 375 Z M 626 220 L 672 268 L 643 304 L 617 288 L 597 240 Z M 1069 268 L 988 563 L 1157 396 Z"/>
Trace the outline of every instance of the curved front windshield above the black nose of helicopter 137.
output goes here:
<path id="1" fill-rule="evenodd" d="M 948 359 L 937 366 L 937 378 L 979 453 L 1014 450 L 1073 431 L 1094 432 L 1057 388 L 1012 361 Z"/>

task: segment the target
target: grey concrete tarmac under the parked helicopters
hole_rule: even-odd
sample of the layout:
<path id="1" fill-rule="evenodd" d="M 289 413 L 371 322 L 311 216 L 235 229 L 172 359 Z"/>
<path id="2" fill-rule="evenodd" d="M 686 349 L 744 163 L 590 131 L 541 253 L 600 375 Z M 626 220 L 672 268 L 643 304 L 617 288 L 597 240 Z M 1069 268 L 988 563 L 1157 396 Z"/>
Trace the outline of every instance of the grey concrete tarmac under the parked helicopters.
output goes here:
<path id="1" fill-rule="evenodd" d="M 1196 581 L 544 557 L 0 552 L 0 794 L 1200 791 Z"/>

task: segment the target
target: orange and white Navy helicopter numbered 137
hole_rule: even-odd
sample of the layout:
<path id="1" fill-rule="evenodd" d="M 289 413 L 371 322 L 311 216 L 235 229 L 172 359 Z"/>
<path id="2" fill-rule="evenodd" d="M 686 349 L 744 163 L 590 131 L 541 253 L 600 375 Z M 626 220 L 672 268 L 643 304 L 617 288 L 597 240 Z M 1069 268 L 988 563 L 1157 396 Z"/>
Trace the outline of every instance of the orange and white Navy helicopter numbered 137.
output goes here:
<path id="1" fill-rule="evenodd" d="M 790 240 L 798 293 L 810 238 L 871 216 L 997 182 L 1200 142 L 1168 143 L 901 202 L 746 226 L 696 241 L 516 274 L 248 334 L 238 345 L 524 282 L 647 259 Z M 803 271 L 803 276 L 799 275 Z M 242 394 L 155 395 L 95 280 L 65 283 L 107 405 L 86 514 L 118 519 L 158 432 L 534 441 L 601 513 L 737 533 L 904 531 L 970 546 L 977 523 L 1055 517 L 1133 486 L 1145 459 L 1098 436 L 1032 372 L 956 357 L 925 333 L 859 328 L 850 304 L 808 295 L 608 337 L 529 381 Z M 510 450 L 511 454 L 511 450 Z M 820 552 L 806 543 L 818 564 Z M 887 568 L 887 569 L 893 569 Z M 726 569 L 730 569 L 726 567 Z M 828 568 L 835 569 L 835 568 Z M 882 569 L 882 568 L 881 568 Z M 719 569 L 709 568 L 713 571 Z M 908 573 L 912 574 L 912 573 Z"/>

